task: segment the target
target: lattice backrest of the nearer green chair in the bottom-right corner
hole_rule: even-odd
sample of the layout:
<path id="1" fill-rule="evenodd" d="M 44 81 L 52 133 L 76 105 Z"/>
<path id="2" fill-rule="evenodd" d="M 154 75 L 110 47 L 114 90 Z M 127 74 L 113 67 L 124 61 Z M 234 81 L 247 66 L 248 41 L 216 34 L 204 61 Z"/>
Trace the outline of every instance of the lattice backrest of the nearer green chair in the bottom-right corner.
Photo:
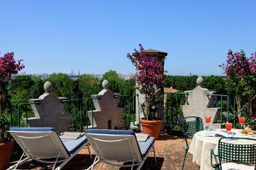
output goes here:
<path id="1" fill-rule="evenodd" d="M 221 162 L 249 163 L 256 165 L 256 139 L 222 138 L 218 140 Z"/>

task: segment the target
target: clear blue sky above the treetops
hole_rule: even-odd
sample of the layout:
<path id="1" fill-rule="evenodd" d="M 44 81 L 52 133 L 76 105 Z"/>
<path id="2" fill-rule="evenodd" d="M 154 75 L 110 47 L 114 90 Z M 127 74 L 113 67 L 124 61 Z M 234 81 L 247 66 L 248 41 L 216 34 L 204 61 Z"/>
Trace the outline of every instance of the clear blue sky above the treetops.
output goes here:
<path id="1" fill-rule="evenodd" d="M 168 53 L 171 75 L 221 75 L 231 48 L 256 49 L 253 0 L 0 0 L 0 52 L 26 73 L 134 73 L 143 43 Z"/>

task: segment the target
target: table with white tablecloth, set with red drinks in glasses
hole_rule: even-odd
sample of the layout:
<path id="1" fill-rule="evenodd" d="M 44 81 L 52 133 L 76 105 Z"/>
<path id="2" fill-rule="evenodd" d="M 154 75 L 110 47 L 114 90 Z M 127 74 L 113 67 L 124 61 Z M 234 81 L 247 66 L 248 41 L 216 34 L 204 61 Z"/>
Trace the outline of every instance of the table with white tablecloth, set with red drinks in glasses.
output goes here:
<path id="1" fill-rule="evenodd" d="M 193 155 L 192 161 L 195 162 L 197 165 L 200 166 L 201 170 L 211 170 L 214 169 L 211 166 L 211 150 L 214 150 L 215 153 L 218 154 L 218 140 L 221 138 L 230 138 L 228 139 L 233 144 L 239 144 L 239 141 L 237 138 L 244 138 L 244 139 L 256 139 L 256 131 L 253 131 L 251 127 L 247 126 L 244 127 L 245 118 L 244 117 L 238 117 L 240 127 L 232 128 L 233 124 L 230 122 L 224 123 L 225 128 L 218 128 L 218 129 L 212 129 L 211 128 L 211 116 L 206 116 L 206 128 L 205 130 L 199 131 L 194 134 L 191 144 L 189 145 L 189 153 Z M 232 139 L 234 138 L 234 139 Z M 247 143 L 255 143 L 255 140 L 244 142 L 241 144 L 247 144 Z M 255 153 L 256 154 L 256 153 Z M 253 168 L 253 167 L 252 167 Z M 242 165 L 241 168 L 237 169 L 243 169 Z"/>

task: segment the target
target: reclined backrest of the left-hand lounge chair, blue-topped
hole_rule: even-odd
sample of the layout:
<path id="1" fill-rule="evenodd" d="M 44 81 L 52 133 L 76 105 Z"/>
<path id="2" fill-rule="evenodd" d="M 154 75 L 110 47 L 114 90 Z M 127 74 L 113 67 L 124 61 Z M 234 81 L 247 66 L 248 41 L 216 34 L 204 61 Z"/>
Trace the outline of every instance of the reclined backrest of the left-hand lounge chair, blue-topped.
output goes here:
<path id="1" fill-rule="evenodd" d="M 52 127 L 10 127 L 9 133 L 27 156 L 44 159 L 69 156 Z"/>

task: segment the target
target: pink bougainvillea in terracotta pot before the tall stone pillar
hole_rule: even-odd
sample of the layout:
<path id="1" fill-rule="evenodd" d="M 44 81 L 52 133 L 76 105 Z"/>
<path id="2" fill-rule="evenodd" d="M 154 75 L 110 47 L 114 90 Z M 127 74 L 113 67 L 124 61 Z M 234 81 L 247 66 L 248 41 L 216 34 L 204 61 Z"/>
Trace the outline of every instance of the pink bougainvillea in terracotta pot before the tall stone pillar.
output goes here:
<path id="1" fill-rule="evenodd" d="M 141 105 L 144 118 L 140 120 L 143 133 L 149 133 L 155 139 L 160 136 L 160 129 L 163 123 L 158 117 L 158 106 L 162 99 L 162 87 L 164 85 L 164 65 L 163 59 L 149 56 L 139 44 L 140 51 L 135 49 L 135 53 L 127 54 L 131 63 L 136 66 L 136 81 L 141 94 L 144 94 L 145 101 Z"/>

